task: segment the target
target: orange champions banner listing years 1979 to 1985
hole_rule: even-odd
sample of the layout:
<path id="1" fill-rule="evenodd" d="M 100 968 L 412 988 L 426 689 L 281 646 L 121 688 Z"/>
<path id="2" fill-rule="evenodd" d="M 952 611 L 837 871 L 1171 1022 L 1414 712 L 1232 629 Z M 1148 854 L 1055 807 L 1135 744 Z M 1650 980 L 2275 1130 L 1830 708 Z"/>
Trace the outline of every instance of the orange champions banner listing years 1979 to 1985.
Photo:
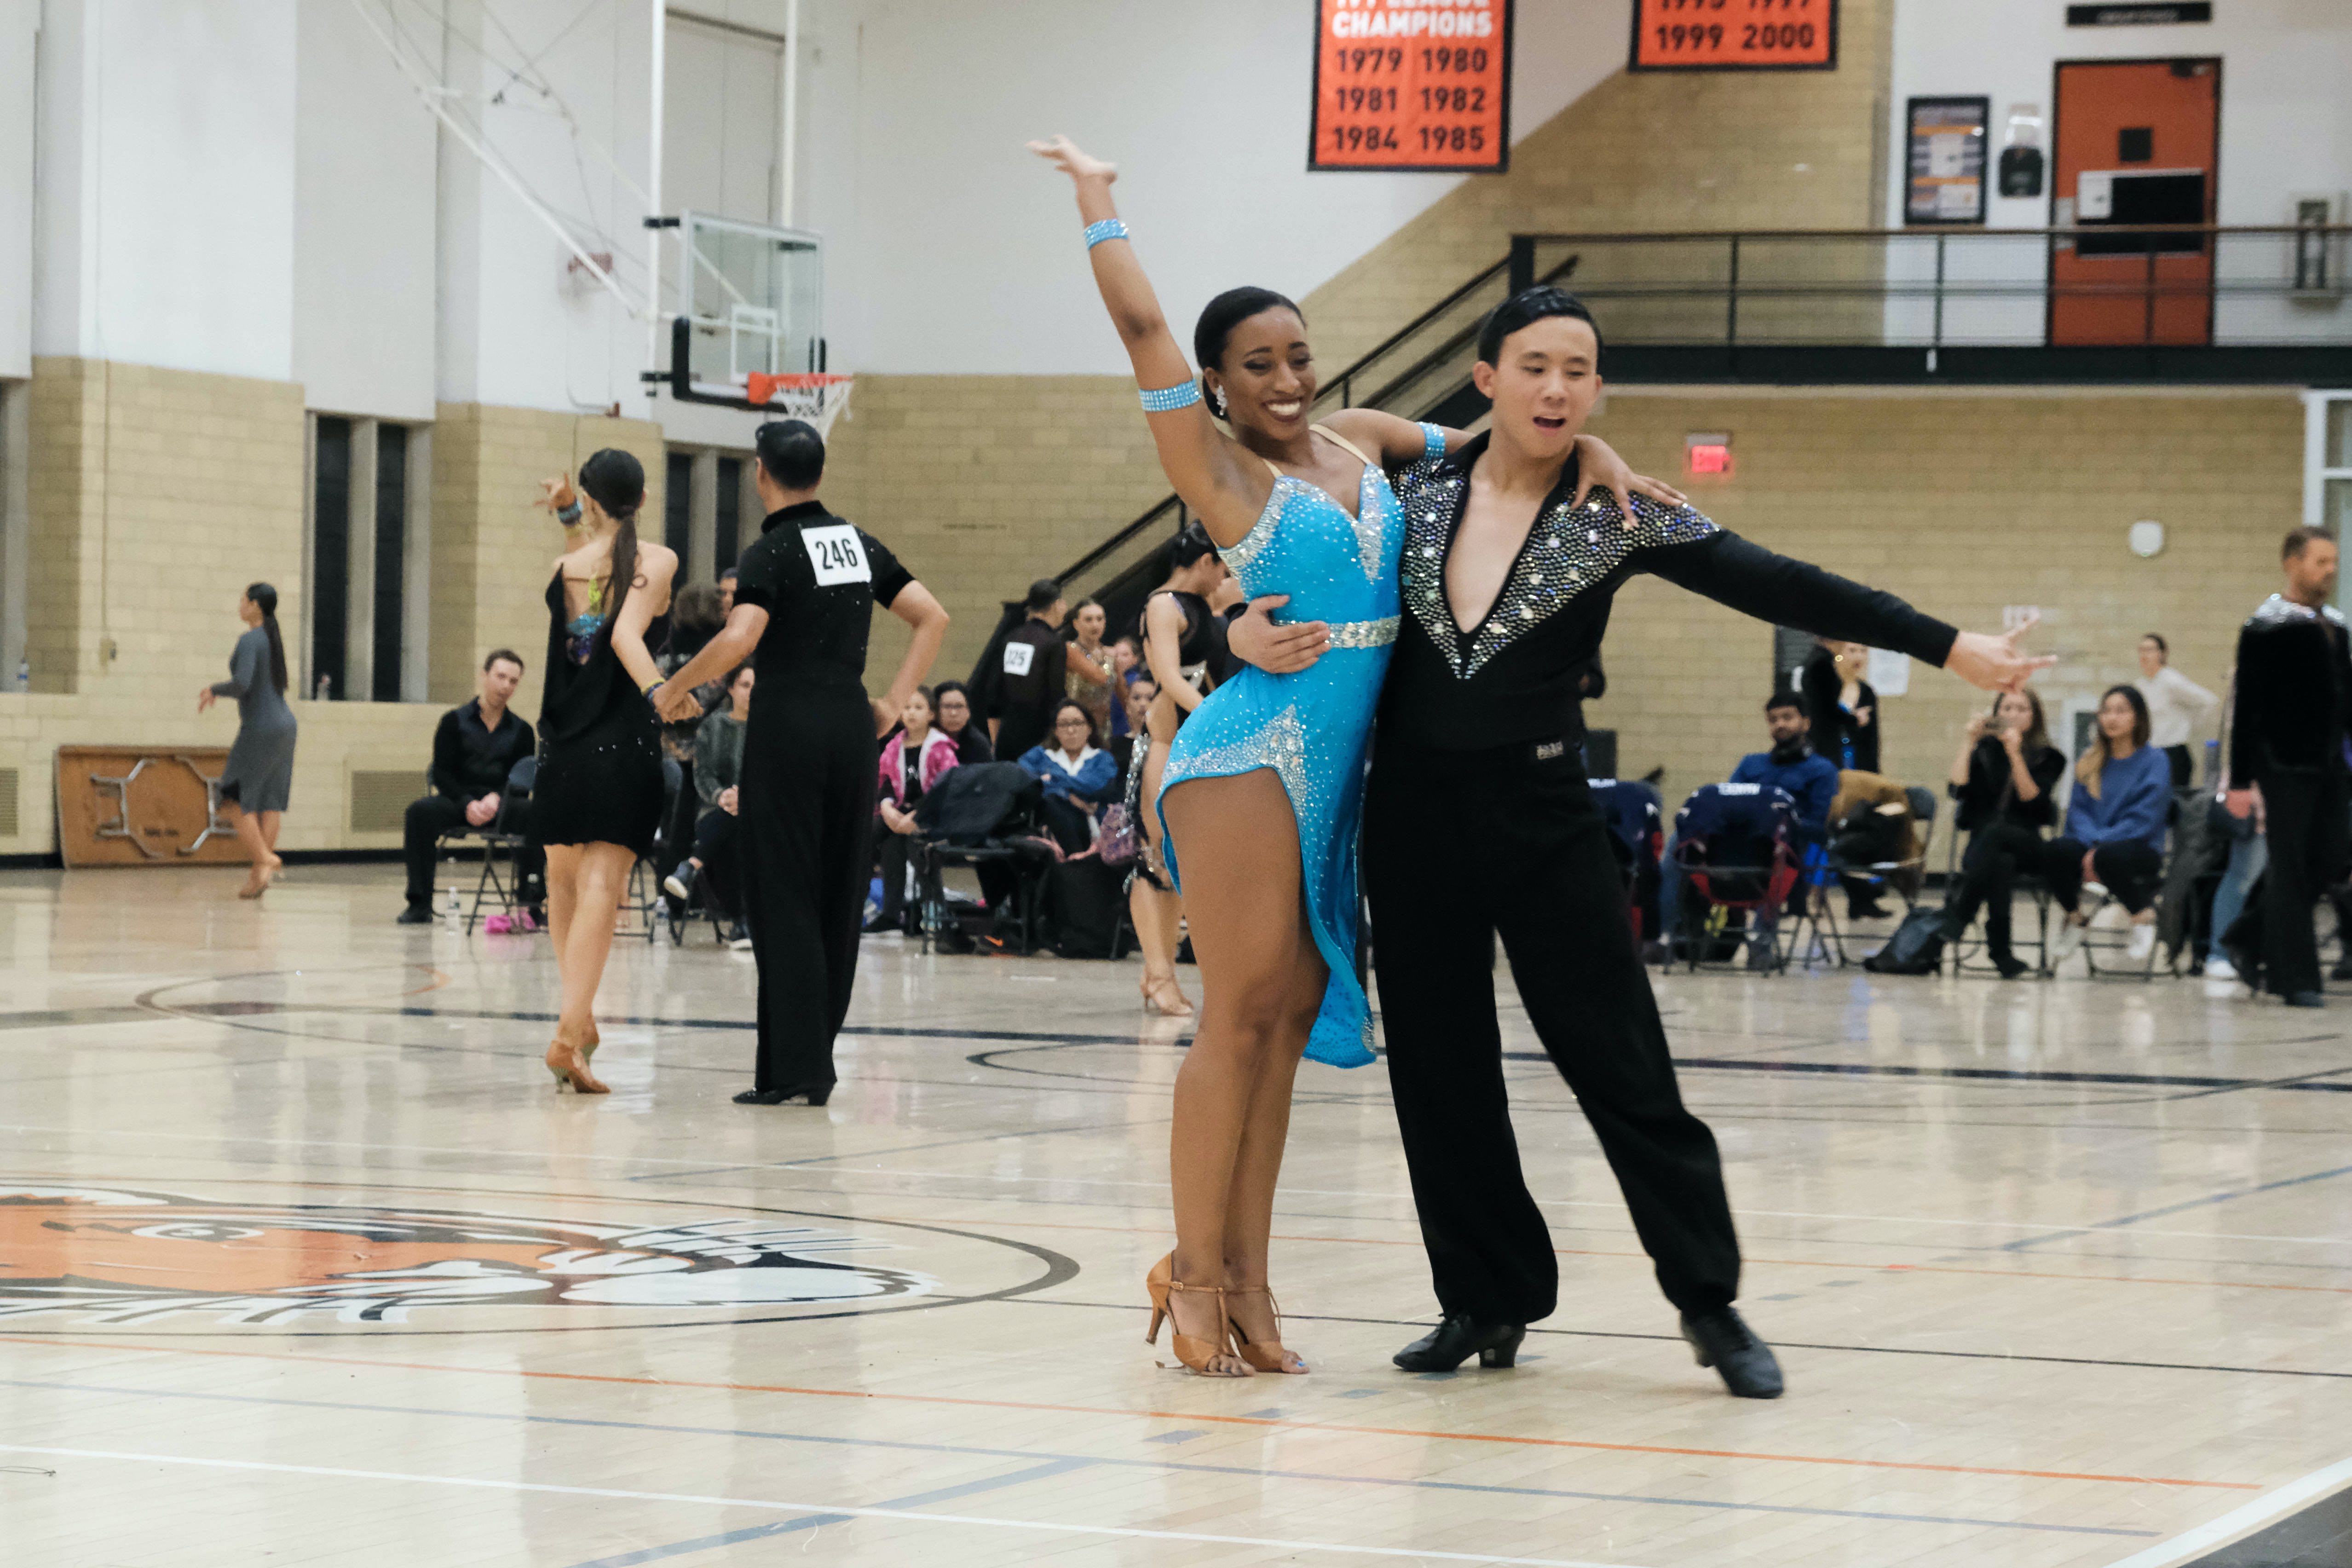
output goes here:
<path id="1" fill-rule="evenodd" d="M 1308 169 L 1508 169 L 1510 7 L 1315 0 Z"/>

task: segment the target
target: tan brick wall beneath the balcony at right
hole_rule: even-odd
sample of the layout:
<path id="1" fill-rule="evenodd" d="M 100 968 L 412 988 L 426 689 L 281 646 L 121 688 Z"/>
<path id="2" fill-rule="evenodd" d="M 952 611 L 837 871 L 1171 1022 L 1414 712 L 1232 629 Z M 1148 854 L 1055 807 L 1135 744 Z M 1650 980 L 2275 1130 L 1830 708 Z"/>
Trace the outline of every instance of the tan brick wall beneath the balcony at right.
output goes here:
<path id="1" fill-rule="evenodd" d="M 2223 691 L 2303 503 L 2293 393 L 1618 393 L 1592 430 L 1663 475 L 1686 433 L 1729 430 L 1731 480 L 1684 482 L 1700 510 L 1943 621 L 1999 630 L 2002 607 L 2039 604 L 2032 646 L 2060 656 L 2034 682 L 2053 731 L 2070 698 L 2138 677 L 2150 630 L 2190 679 Z M 2154 559 L 2124 543 L 2143 517 L 2166 529 Z M 1609 630 L 1609 696 L 1585 717 L 1618 731 L 1623 773 L 1668 769 L 1672 806 L 1762 748 L 1769 665 L 1766 625 L 1637 578 Z M 1940 783 L 1976 701 L 1915 663 L 1910 696 L 1882 703 L 1884 769 Z"/>

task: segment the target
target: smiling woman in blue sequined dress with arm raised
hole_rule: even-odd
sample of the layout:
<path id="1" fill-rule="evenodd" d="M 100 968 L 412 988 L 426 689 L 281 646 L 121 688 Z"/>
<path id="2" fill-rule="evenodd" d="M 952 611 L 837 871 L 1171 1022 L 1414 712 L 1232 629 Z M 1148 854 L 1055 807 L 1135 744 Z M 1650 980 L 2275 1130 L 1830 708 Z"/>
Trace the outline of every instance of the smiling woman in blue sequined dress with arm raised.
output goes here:
<path id="1" fill-rule="evenodd" d="M 1176 733 L 1160 785 L 1202 1018 L 1176 1074 L 1176 1251 L 1145 1281 L 1145 1338 L 1174 1316 L 1176 1356 L 1195 1373 L 1303 1373 L 1282 1347 L 1265 1251 L 1301 1053 L 1338 1067 L 1374 1060 L 1355 973 L 1355 844 L 1402 614 L 1404 522 L 1385 470 L 1468 437 L 1376 409 L 1310 423 L 1305 320 L 1270 289 L 1209 301 L 1192 331 L 1195 381 L 1110 202 L 1117 169 L 1065 136 L 1030 150 L 1077 186 L 1094 280 L 1176 494 L 1254 599 L 1287 595 L 1294 616 L 1331 628 L 1331 654 L 1312 668 L 1244 670 L 1218 686 Z M 1632 484 L 1590 437 L 1583 473 L 1606 489 Z"/>

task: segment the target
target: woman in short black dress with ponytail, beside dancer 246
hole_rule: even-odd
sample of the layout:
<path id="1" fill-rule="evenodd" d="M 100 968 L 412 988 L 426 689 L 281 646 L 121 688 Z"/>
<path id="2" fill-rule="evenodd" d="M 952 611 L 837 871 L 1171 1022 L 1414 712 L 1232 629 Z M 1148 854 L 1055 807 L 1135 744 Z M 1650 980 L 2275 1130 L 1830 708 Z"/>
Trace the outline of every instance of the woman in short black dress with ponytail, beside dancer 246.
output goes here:
<path id="1" fill-rule="evenodd" d="M 539 839 L 548 849 L 548 931 L 562 971 L 562 1018 L 548 1046 L 555 1086 L 590 1095 L 595 990 L 612 952 L 628 872 L 652 853 L 661 823 L 661 724 L 647 691 L 661 684 L 647 644 L 661 644 L 677 555 L 637 541 L 644 468 L 619 447 L 581 463 L 581 496 L 548 480 L 548 505 L 574 534 L 548 578 L 548 677 L 539 698 Z"/>

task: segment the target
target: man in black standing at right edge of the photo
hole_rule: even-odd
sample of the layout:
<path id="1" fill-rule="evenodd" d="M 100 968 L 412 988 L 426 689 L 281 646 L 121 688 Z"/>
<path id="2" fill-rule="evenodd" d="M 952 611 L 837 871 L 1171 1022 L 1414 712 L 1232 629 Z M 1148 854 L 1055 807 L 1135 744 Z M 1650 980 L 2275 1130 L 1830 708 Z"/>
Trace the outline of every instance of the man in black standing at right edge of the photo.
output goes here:
<path id="1" fill-rule="evenodd" d="M 2347 837 L 2345 736 L 2352 731 L 2352 656 L 2336 588 L 2336 536 L 2303 527 L 2281 550 L 2286 590 L 2270 595 L 2237 635 L 2237 715 L 2230 724 L 2232 816 L 2263 788 L 2270 870 L 2249 961 L 2286 1006 L 2326 1006 L 2312 903 L 2343 882 Z M 2244 924 L 2244 922 L 2241 922 Z M 2227 936 L 2227 933 L 2225 933 Z M 2241 976 L 2253 976 L 2239 964 Z"/>

